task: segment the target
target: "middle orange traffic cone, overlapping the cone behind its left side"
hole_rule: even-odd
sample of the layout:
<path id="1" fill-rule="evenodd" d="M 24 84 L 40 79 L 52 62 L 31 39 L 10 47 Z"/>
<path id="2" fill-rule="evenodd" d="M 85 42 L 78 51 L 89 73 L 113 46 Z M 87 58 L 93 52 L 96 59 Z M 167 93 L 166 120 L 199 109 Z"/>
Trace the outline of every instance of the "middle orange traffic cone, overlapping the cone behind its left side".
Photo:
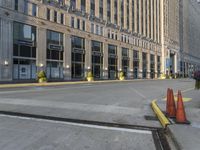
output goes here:
<path id="1" fill-rule="evenodd" d="M 170 92 L 170 98 L 169 98 L 169 112 L 168 112 L 168 117 L 170 118 L 175 118 L 176 117 L 176 104 L 175 104 L 175 100 L 174 100 L 174 92 L 171 89 Z"/>

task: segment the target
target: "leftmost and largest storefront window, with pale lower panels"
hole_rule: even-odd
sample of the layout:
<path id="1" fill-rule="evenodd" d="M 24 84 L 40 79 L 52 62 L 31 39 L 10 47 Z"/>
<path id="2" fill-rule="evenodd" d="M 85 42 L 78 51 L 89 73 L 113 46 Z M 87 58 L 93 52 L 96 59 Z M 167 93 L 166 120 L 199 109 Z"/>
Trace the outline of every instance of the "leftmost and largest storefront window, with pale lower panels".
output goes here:
<path id="1" fill-rule="evenodd" d="M 13 24 L 13 79 L 36 79 L 36 27 Z"/>

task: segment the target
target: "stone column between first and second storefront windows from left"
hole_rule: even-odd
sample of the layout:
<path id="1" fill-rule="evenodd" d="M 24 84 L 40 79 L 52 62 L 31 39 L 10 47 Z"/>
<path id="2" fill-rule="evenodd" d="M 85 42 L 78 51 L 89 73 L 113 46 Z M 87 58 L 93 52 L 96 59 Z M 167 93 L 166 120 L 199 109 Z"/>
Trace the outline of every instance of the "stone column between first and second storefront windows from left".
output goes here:
<path id="1" fill-rule="evenodd" d="M 39 27 L 37 37 L 37 71 L 46 70 L 46 54 L 47 54 L 47 30 Z"/>

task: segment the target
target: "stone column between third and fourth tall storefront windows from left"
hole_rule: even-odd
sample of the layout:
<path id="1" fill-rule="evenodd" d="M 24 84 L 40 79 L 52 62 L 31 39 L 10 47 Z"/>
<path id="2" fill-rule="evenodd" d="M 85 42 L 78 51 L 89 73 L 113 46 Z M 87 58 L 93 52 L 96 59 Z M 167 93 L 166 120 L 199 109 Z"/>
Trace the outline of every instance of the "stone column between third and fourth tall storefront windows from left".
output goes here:
<path id="1" fill-rule="evenodd" d="M 85 77 L 92 68 L 91 39 L 85 39 Z"/>

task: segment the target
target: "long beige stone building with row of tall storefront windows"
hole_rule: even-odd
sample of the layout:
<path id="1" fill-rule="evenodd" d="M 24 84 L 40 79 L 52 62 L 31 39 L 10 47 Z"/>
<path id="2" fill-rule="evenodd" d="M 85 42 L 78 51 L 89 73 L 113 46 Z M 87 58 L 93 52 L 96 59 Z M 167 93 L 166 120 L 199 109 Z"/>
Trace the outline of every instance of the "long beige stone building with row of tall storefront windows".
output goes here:
<path id="1" fill-rule="evenodd" d="M 0 0 L 0 81 L 175 73 L 177 1 Z"/>

